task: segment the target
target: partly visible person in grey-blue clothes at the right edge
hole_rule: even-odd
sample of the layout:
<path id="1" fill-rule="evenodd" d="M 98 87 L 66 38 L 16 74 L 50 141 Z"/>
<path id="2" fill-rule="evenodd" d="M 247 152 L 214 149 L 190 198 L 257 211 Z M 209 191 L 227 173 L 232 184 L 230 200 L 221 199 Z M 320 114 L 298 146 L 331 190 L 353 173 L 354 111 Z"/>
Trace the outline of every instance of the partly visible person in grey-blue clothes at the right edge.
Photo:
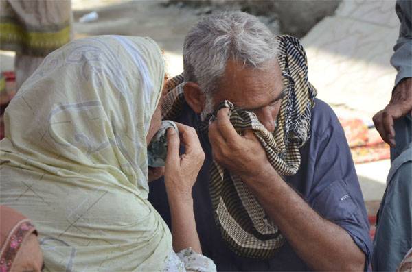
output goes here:
<path id="1" fill-rule="evenodd" d="M 373 119 L 391 145 L 391 169 L 376 221 L 375 271 L 395 271 L 412 247 L 412 1 L 396 1 L 396 13 L 400 32 L 391 64 L 398 74 L 391 101 Z"/>

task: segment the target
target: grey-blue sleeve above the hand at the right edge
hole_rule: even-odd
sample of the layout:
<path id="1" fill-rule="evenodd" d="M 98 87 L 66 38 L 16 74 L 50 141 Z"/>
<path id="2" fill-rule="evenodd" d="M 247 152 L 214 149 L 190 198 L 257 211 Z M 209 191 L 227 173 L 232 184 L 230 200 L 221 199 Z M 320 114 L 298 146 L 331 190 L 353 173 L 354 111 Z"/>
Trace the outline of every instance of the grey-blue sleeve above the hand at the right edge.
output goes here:
<path id="1" fill-rule="evenodd" d="M 402 79 L 412 77 L 412 1 L 397 0 L 396 14 L 400 20 L 400 30 L 391 58 L 392 66 L 398 71 L 395 86 Z"/>

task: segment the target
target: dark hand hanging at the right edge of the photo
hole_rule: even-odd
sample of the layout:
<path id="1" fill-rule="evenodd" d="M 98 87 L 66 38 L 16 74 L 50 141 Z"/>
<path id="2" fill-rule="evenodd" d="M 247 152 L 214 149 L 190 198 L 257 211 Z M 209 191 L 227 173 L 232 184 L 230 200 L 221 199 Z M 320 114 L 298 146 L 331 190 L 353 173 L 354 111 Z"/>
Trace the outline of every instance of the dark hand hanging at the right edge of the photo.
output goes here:
<path id="1" fill-rule="evenodd" d="M 412 77 L 403 79 L 396 86 L 389 104 L 373 118 L 376 130 L 391 147 L 396 145 L 393 121 L 409 113 L 412 114 Z"/>

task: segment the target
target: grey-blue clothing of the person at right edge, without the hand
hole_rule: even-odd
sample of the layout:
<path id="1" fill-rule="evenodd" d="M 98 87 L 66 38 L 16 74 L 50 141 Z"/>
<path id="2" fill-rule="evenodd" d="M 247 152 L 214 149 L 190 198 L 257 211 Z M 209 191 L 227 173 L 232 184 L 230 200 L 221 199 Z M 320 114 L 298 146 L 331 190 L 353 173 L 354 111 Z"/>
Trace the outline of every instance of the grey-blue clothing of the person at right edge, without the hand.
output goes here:
<path id="1" fill-rule="evenodd" d="M 393 47 L 391 64 L 398 74 L 395 86 L 412 77 L 412 1 L 396 1 L 400 20 L 399 38 Z M 394 123 L 396 147 L 391 148 L 391 169 L 387 189 L 380 202 L 374 238 L 374 271 L 396 271 L 412 247 L 412 116 Z"/>

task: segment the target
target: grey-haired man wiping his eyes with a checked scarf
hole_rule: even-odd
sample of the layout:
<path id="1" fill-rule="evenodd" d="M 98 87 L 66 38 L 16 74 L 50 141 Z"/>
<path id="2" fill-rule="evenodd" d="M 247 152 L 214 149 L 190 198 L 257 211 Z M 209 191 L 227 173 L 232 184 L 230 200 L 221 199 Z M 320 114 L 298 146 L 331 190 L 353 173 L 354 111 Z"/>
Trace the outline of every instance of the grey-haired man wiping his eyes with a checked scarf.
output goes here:
<path id="1" fill-rule="evenodd" d="M 205 151 L 192 192 L 203 254 L 220 271 L 366 270 L 369 224 L 350 150 L 314 99 L 299 41 L 249 14 L 213 14 L 187 34 L 183 66 L 163 114 L 194 127 Z M 162 180 L 149 199 L 170 223 Z"/>

